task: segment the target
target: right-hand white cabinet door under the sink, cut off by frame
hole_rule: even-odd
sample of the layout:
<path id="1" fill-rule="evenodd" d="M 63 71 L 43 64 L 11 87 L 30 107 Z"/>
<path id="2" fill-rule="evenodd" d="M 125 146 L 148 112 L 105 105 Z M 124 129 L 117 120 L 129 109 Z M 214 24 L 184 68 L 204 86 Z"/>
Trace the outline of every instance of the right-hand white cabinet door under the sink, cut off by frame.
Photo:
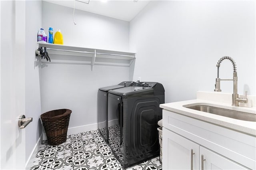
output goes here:
<path id="1" fill-rule="evenodd" d="M 200 170 L 246 170 L 236 162 L 229 160 L 203 146 L 200 146 Z"/>

